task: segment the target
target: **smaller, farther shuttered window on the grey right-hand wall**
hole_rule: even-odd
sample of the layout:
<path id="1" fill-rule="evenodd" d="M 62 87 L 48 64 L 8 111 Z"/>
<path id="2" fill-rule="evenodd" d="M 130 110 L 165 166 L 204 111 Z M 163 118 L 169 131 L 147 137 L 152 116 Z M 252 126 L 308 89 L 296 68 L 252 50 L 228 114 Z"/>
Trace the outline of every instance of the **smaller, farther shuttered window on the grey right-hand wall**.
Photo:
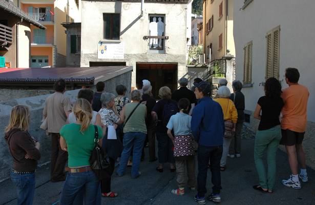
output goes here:
<path id="1" fill-rule="evenodd" d="M 252 61 L 253 61 L 253 42 L 249 42 L 244 46 L 244 72 L 243 72 L 244 84 L 251 84 Z"/>

